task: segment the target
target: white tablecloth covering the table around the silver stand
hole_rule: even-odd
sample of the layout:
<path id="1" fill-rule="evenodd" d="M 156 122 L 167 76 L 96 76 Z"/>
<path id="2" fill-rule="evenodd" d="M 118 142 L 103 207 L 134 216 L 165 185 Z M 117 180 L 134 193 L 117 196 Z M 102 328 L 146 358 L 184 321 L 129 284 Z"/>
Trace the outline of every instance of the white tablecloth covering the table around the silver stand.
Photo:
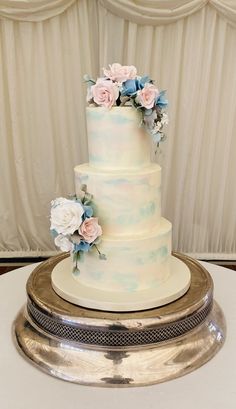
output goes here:
<path id="1" fill-rule="evenodd" d="M 34 265 L 0 276 L 1 409 L 235 409 L 236 271 L 203 263 L 215 283 L 215 299 L 227 322 L 220 352 L 196 371 L 142 388 L 94 388 L 63 382 L 25 361 L 12 341 L 12 322 L 26 301 Z"/>

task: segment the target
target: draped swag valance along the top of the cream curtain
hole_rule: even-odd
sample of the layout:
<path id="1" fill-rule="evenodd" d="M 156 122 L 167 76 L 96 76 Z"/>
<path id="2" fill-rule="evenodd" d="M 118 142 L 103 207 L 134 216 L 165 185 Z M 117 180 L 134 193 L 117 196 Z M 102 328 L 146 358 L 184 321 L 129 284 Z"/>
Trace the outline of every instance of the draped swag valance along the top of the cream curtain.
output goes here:
<path id="1" fill-rule="evenodd" d="M 0 17 L 43 21 L 63 13 L 76 0 L 0 0 Z M 78 1 L 78 0 L 77 0 Z M 141 25 L 169 24 L 190 16 L 207 4 L 231 23 L 236 22 L 235 0 L 98 0 L 107 11 Z"/>

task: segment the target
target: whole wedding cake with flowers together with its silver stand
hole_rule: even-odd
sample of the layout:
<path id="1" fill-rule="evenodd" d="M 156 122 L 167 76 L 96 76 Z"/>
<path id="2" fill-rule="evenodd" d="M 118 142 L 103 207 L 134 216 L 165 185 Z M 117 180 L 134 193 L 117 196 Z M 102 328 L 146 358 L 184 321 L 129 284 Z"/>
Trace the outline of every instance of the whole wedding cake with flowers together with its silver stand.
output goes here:
<path id="1" fill-rule="evenodd" d="M 161 217 L 150 142 L 164 137 L 164 92 L 120 64 L 86 81 L 89 162 L 75 167 L 76 193 L 51 208 L 51 233 L 67 253 L 30 275 L 15 341 L 31 363 L 66 381 L 163 382 L 215 355 L 224 317 L 203 266 L 171 254 L 172 226 Z"/>

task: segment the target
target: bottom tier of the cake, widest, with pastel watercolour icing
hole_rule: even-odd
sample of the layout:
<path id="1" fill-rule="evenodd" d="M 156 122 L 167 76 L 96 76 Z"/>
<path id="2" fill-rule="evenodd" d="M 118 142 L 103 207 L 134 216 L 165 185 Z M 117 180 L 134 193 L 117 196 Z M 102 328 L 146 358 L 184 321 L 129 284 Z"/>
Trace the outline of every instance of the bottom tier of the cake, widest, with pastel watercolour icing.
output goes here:
<path id="1" fill-rule="evenodd" d="M 160 225 L 142 236 L 103 235 L 98 250 L 81 253 L 73 278 L 93 289 L 133 293 L 158 288 L 170 275 L 171 223 L 162 218 Z M 73 271 L 73 260 L 67 269 Z"/>

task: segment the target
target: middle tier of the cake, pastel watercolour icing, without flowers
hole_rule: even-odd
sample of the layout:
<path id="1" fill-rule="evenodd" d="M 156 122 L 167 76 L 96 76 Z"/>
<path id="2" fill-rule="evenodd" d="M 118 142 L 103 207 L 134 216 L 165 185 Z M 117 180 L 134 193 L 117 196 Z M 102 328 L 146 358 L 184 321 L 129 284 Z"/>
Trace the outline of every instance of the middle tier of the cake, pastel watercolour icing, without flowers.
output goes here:
<path id="1" fill-rule="evenodd" d="M 161 168 L 150 164 L 140 171 L 101 171 L 88 164 L 75 167 L 75 187 L 81 197 L 86 185 L 103 234 L 146 234 L 161 218 Z"/>

